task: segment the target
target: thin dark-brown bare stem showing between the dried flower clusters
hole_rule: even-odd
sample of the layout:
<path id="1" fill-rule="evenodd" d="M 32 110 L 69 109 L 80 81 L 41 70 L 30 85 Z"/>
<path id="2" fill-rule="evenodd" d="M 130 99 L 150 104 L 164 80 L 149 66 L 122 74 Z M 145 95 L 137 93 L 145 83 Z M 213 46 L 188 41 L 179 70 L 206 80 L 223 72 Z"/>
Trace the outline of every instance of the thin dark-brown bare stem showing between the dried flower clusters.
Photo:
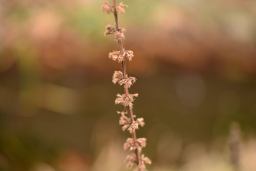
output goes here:
<path id="1" fill-rule="evenodd" d="M 118 18 L 117 18 L 117 10 L 116 10 L 116 0 L 114 1 L 114 15 L 115 15 L 115 23 L 116 23 L 116 30 L 119 31 L 119 27 L 118 27 Z M 121 54 L 123 54 L 123 44 L 121 40 L 118 40 L 118 45 L 119 45 L 119 50 L 121 52 Z M 125 59 L 123 59 L 122 61 L 122 71 L 123 71 L 123 77 L 124 79 L 126 79 L 126 63 L 125 63 Z M 128 88 L 124 87 L 124 93 L 126 97 L 129 97 L 129 90 Z M 133 117 L 133 109 L 131 109 L 130 107 L 128 108 L 128 112 L 131 118 L 131 122 L 133 123 L 134 121 L 134 117 Z M 134 131 L 133 135 L 133 140 L 136 141 L 136 132 Z M 135 149 L 135 154 L 136 154 L 136 159 L 137 159 L 137 164 L 139 164 L 139 151 L 138 149 Z"/>

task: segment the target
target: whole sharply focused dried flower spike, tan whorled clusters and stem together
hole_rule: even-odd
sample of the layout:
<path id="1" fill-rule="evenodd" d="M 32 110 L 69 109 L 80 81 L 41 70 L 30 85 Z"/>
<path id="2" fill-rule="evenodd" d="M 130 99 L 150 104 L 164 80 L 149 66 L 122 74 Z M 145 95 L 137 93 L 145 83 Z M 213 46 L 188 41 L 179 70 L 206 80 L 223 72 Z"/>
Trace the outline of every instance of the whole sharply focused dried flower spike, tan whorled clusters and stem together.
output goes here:
<path id="1" fill-rule="evenodd" d="M 121 104 L 124 107 L 122 112 L 117 112 L 120 115 L 119 124 L 122 125 L 122 130 L 128 130 L 132 134 L 132 138 L 128 138 L 123 145 L 124 150 L 134 151 L 132 155 L 128 155 L 125 159 L 126 166 L 132 168 L 134 164 L 136 167 L 134 171 L 146 171 L 145 163 L 151 164 L 151 160 L 141 154 L 142 148 L 146 146 L 146 138 L 136 138 L 136 130 L 139 126 L 144 126 L 145 122 L 143 118 L 137 118 L 133 115 L 133 102 L 138 94 L 130 94 L 129 88 L 136 82 L 135 77 L 128 77 L 126 74 L 125 59 L 131 61 L 134 57 L 133 51 L 124 50 L 122 46 L 122 40 L 124 39 L 124 28 L 118 27 L 117 14 L 124 14 L 127 5 L 120 3 L 116 6 L 116 0 L 113 0 L 114 5 L 111 6 L 110 3 L 104 2 L 101 10 L 106 13 L 114 13 L 116 27 L 111 25 L 106 26 L 106 31 L 104 35 L 115 35 L 115 40 L 118 41 L 119 51 L 113 51 L 109 53 L 109 58 L 122 63 L 122 71 L 115 71 L 112 77 L 114 84 L 118 82 L 120 86 L 124 88 L 124 94 L 117 94 L 115 104 Z M 128 108 L 126 108 L 128 107 Z"/>

